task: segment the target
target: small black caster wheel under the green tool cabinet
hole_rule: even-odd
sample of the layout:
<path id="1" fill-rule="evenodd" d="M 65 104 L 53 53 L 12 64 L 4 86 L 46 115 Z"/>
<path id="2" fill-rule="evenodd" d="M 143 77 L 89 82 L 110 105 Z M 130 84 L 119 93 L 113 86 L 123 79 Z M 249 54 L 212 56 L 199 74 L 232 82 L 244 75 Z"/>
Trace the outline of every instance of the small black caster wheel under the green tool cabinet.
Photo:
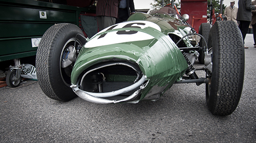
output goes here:
<path id="1" fill-rule="evenodd" d="M 17 76 L 17 70 L 13 70 L 7 73 L 6 75 L 6 84 L 10 88 L 16 88 L 19 86 L 20 82 L 22 81 L 22 77 L 19 75 Z"/>

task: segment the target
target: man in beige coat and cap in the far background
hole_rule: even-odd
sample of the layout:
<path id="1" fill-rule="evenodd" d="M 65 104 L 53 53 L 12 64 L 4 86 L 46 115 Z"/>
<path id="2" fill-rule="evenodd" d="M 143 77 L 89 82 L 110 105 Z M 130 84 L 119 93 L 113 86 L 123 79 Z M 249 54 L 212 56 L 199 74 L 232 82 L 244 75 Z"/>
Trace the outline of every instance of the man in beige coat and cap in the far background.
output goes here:
<path id="1" fill-rule="evenodd" d="M 234 1 L 231 1 L 230 6 L 225 8 L 223 15 L 227 17 L 227 20 L 234 21 L 238 25 L 237 14 L 238 8 L 234 6 Z"/>

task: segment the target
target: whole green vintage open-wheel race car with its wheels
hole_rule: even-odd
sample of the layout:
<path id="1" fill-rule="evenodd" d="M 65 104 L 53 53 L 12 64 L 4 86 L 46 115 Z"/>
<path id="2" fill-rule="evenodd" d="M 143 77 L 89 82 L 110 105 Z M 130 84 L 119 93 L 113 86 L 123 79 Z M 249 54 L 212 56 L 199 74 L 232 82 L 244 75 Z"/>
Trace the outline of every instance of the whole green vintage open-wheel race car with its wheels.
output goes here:
<path id="1" fill-rule="evenodd" d="M 206 85 L 214 115 L 230 115 L 241 98 L 244 43 L 232 21 L 202 23 L 199 34 L 172 7 L 135 13 L 85 38 L 70 23 L 51 26 L 36 54 L 37 78 L 50 98 L 137 103 L 155 101 L 175 83 Z M 194 68 L 200 57 L 202 67 Z M 198 77 L 197 70 L 205 71 Z"/>

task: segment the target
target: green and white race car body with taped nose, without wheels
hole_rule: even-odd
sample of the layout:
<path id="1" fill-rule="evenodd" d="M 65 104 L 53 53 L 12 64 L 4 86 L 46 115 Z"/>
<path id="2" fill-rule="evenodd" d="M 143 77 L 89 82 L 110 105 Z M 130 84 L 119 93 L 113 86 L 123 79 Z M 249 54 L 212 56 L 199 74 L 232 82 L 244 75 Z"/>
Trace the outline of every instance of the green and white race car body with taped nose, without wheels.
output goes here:
<path id="1" fill-rule="evenodd" d="M 79 51 L 71 87 L 94 103 L 137 103 L 157 100 L 188 68 L 179 47 L 192 47 L 191 32 L 169 14 L 136 13 L 126 22 L 105 28 Z"/>

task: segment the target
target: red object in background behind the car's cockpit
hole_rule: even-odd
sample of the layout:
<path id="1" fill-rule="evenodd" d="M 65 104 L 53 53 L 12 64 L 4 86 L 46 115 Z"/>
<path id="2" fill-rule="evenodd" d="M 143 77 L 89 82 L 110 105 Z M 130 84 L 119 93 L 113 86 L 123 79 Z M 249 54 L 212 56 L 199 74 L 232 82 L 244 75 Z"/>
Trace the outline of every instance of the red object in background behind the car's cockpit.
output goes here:
<path id="1" fill-rule="evenodd" d="M 198 33 L 201 23 L 207 22 L 207 0 L 181 0 L 180 12 L 189 15 L 187 22 Z"/>

